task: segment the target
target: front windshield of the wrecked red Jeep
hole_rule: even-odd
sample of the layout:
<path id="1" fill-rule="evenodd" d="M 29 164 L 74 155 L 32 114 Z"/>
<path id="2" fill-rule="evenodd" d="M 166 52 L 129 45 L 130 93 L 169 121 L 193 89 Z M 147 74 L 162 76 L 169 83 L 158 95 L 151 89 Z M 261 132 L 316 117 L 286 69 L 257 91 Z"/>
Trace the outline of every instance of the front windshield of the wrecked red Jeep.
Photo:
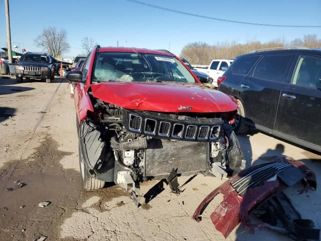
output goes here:
<path id="1" fill-rule="evenodd" d="M 193 75 L 172 56 L 138 53 L 98 53 L 93 81 L 195 83 Z"/>

